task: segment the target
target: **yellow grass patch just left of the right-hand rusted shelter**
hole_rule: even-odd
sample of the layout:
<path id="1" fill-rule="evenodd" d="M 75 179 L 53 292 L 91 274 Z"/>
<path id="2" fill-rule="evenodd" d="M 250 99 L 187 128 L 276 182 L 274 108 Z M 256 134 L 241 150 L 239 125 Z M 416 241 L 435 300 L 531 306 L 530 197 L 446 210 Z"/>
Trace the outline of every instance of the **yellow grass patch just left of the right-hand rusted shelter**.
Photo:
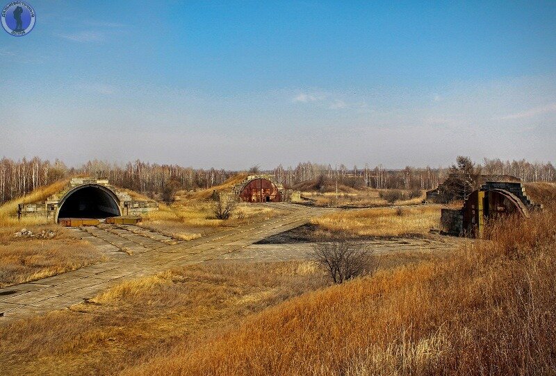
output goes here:
<path id="1" fill-rule="evenodd" d="M 323 230 L 359 236 L 427 234 L 440 226 L 440 205 L 343 210 L 311 219 Z"/>

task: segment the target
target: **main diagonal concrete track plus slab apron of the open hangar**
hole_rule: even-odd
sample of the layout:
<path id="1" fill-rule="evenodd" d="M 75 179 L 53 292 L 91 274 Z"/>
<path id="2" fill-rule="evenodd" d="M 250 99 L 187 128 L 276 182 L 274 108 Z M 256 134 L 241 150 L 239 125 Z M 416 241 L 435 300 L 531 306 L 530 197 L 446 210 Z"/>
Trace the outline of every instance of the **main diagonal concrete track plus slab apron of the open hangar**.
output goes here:
<path id="1" fill-rule="evenodd" d="M 101 247 L 113 259 L 53 277 L 0 289 L 0 322 L 63 309 L 92 298 L 126 278 L 151 275 L 170 268 L 219 259 L 278 232 L 302 225 L 327 209 L 288 203 L 272 204 L 288 211 L 275 219 L 225 230 L 192 241 L 174 241 L 133 234 L 119 227 L 83 228 L 79 236 Z M 136 228 L 140 231 L 142 229 Z M 169 244 L 170 243 L 170 244 Z M 172 244 L 173 243 L 173 244 Z M 129 250 L 129 253 L 122 252 Z M 131 255 L 130 255 L 131 254 Z"/>

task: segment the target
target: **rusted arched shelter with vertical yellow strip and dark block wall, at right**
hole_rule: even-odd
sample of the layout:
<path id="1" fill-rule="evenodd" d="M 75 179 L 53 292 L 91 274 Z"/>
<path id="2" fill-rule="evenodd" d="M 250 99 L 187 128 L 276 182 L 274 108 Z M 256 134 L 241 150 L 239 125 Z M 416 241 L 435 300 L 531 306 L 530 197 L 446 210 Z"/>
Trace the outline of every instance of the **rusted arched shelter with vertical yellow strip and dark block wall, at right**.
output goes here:
<path id="1" fill-rule="evenodd" d="M 540 209 L 542 205 L 532 202 L 521 182 L 486 182 L 468 196 L 461 210 L 443 209 L 441 223 L 452 234 L 482 237 L 487 220 L 509 214 L 528 218 L 532 210 Z"/>

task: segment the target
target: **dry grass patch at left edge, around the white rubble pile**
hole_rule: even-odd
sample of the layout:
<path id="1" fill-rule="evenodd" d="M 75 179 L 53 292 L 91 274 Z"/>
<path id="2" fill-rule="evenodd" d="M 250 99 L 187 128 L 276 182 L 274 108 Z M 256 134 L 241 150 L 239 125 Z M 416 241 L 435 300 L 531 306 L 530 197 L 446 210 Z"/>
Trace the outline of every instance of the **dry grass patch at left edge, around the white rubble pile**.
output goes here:
<path id="1" fill-rule="evenodd" d="M 38 280 L 104 260 L 104 255 L 87 241 L 74 239 L 65 228 L 55 225 L 31 226 L 40 234 L 54 231 L 51 239 L 15 237 L 18 227 L 0 230 L 0 287 Z"/>

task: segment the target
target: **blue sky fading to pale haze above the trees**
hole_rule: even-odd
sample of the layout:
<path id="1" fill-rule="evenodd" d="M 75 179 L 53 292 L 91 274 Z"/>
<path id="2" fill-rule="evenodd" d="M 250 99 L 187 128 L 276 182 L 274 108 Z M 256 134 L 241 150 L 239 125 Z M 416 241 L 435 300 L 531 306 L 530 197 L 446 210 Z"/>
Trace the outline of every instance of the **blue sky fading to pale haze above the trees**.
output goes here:
<path id="1" fill-rule="evenodd" d="M 0 157 L 556 159 L 556 1 L 30 3 L 0 30 Z"/>

